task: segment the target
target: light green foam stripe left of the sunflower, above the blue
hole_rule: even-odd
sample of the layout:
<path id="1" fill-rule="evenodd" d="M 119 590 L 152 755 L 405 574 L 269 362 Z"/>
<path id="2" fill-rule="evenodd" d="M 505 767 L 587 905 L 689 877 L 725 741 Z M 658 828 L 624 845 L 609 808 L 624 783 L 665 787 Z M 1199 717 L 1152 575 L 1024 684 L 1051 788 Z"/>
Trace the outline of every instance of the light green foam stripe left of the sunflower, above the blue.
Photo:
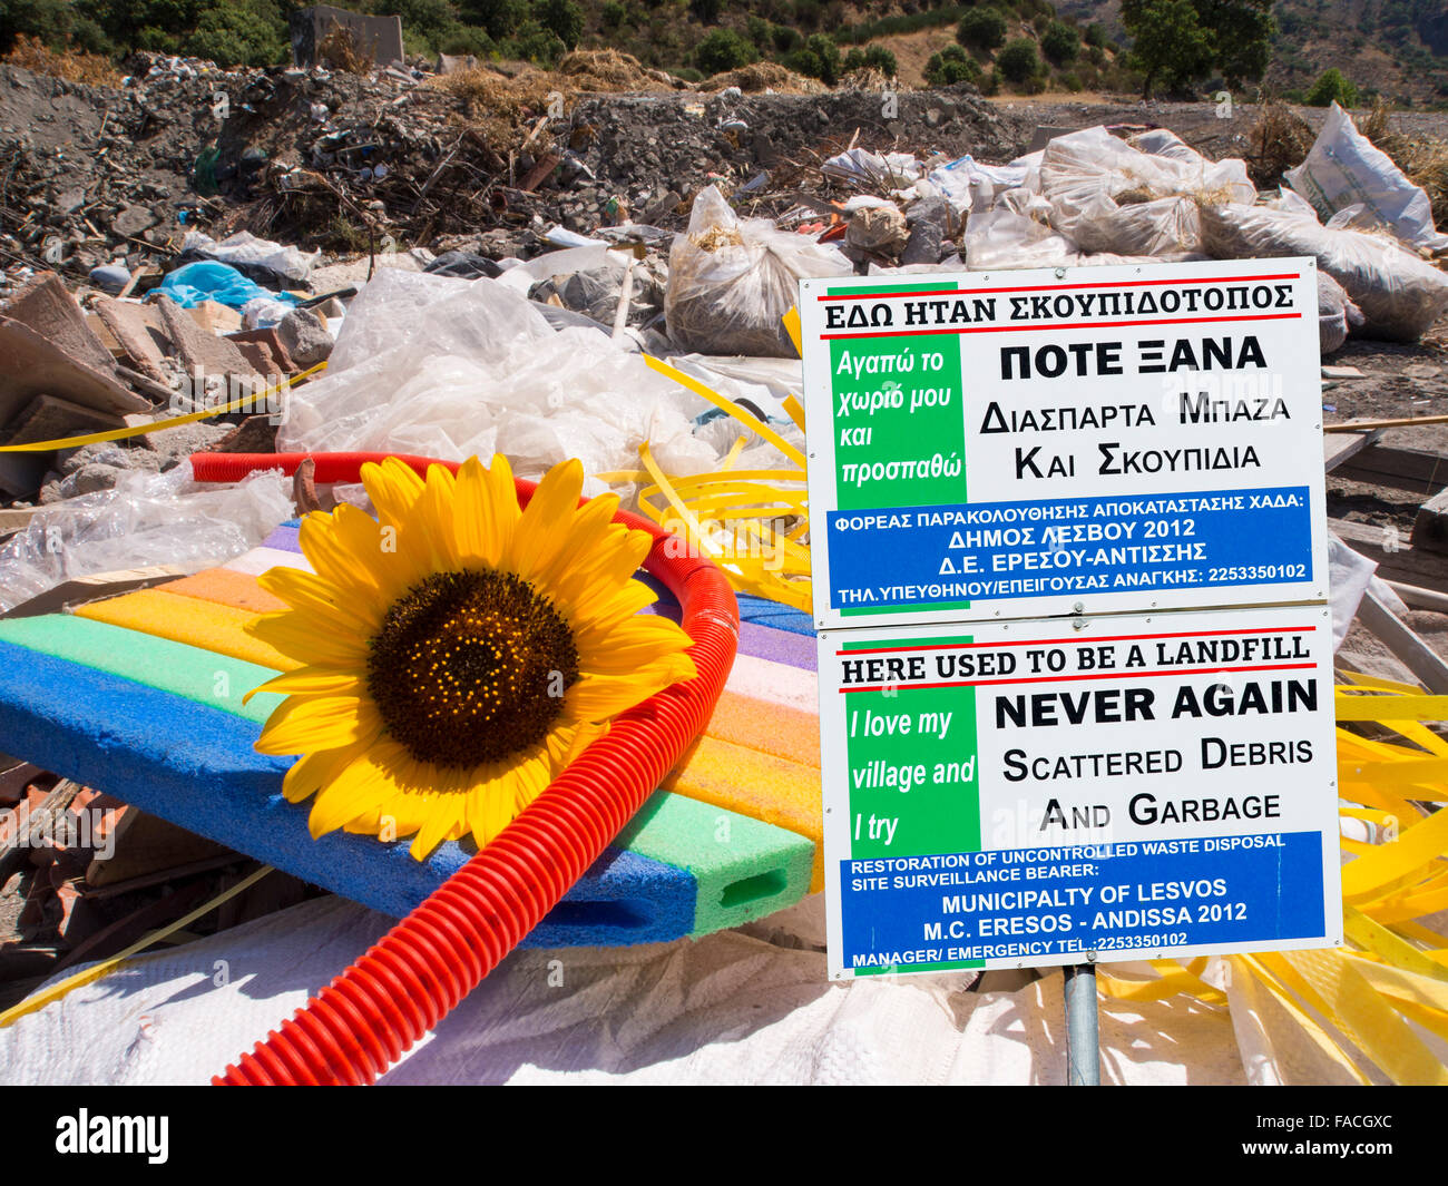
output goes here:
<path id="1" fill-rule="evenodd" d="M 265 724 L 282 701 L 274 692 L 262 692 L 242 704 L 243 695 L 277 675 L 268 668 L 74 614 L 0 618 L 0 642 L 119 675 L 258 724 Z"/>

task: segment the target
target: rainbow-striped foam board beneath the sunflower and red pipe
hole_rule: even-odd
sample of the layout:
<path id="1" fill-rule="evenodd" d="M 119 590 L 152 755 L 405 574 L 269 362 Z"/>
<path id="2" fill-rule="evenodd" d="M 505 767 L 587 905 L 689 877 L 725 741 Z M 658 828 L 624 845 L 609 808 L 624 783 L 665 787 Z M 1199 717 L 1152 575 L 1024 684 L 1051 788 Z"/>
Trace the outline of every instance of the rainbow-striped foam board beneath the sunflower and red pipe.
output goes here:
<path id="1" fill-rule="evenodd" d="M 242 704 L 274 670 L 292 666 L 245 630 L 256 614 L 281 608 L 256 584 L 275 563 L 306 566 L 295 523 L 216 569 L 72 614 L 0 620 L 0 740 L 7 752 L 400 917 L 473 847 L 447 841 L 420 863 L 405 840 L 313 840 L 306 805 L 281 796 L 291 759 L 253 749 L 279 698 Z M 670 789 L 644 805 L 524 946 L 699 935 L 818 888 L 809 621 L 772 602 L 740 602 L 746 662 L 721 704 L 720 736 L 711 726 Z M 678 607 L 665 594 L 654 611 Z"/>

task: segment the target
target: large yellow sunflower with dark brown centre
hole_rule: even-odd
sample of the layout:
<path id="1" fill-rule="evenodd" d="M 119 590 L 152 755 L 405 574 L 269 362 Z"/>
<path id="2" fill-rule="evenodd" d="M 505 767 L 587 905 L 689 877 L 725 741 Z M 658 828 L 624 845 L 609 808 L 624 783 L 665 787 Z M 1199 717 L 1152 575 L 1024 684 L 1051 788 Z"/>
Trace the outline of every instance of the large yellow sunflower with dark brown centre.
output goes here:
<path id="1" fill-rule="evenodd" d="M 526 510 L 507 459 L 427 479 L 395 458 L 362 468 L 378 517 L 352 505 L 301 524 L 311 572 L 262 588 L 291 608 L 252 633 L 298 663 L 256 741 L 301 754 L 282 792 L 316 794 L 313 837 L 336 828 L 492 840 L 607 728 L 610 717 L 695 675 L 689 637 L 639 615 L 646 531 L 613 523 L 618 498 L 578 505 L 584 469 L 555 466 Z"/>

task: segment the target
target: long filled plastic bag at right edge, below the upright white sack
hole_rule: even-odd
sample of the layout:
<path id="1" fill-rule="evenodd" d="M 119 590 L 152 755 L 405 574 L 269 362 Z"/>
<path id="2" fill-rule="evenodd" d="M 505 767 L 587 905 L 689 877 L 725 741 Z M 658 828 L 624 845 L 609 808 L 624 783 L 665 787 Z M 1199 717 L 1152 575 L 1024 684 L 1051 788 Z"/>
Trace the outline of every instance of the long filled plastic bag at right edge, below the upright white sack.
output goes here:
<path id="1" fill-rule="evenodd" d="M 1310 255 L 1363 311 L 1363 336 L 1415 342 L 1448 311 L 1448 275 L 1389 235 L 1332 230 L 1266 206 L 1202 209 L 1202 246 L 1216 259 Z"/>

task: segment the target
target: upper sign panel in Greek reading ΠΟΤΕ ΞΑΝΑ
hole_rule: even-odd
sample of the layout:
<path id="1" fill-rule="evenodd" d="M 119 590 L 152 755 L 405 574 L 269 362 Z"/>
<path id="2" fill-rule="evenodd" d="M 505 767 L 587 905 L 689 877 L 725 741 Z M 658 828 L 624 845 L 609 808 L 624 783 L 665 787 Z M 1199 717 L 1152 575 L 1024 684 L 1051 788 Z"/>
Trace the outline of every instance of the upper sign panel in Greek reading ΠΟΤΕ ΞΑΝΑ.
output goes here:
<path id="1" fill-rule="evenodd" d="M 1321 601 L 1310 259 L 801 285 L 822 627 Z"/>

